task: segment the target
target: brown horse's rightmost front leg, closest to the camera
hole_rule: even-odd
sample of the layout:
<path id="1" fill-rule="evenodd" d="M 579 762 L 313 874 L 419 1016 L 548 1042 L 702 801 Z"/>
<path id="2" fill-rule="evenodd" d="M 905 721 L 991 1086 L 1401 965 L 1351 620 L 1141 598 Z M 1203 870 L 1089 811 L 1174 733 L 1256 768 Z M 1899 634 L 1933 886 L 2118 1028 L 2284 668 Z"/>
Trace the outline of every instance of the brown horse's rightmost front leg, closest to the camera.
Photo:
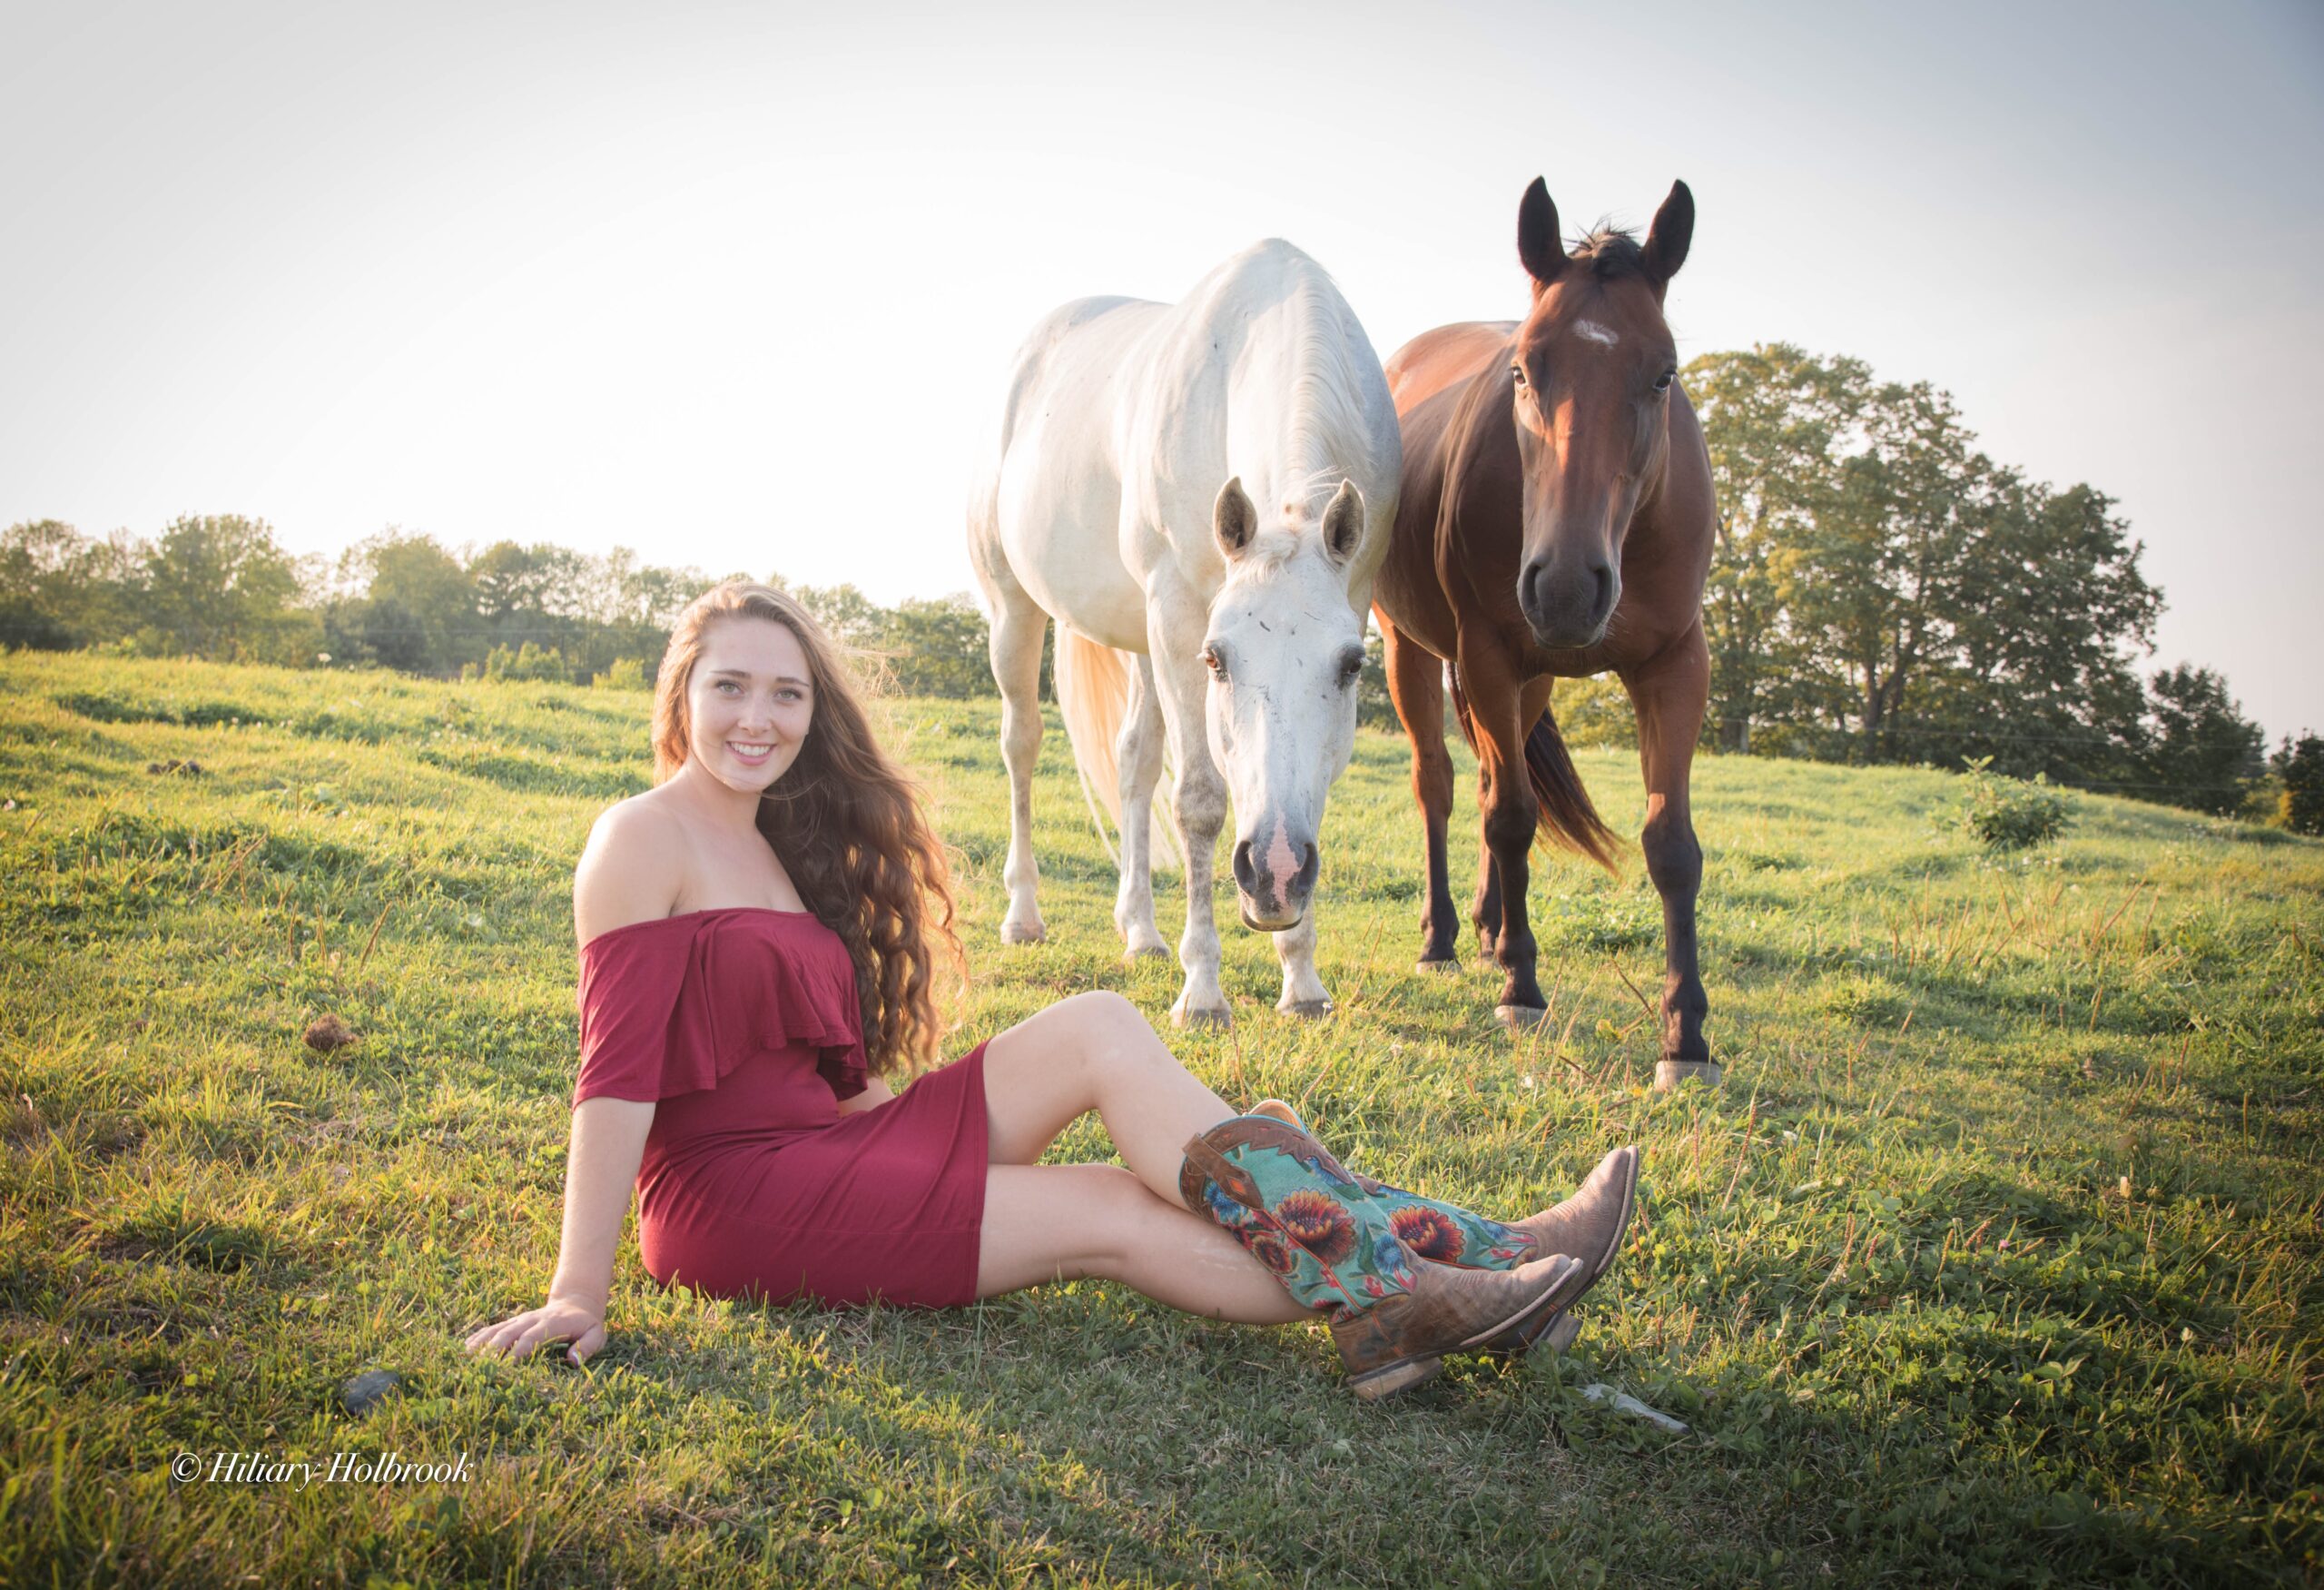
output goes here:
<path id="1" fill-rule="evenodd" d="M 1676 1088 L 1683 1076 L 1715 1083 L 1720 1067 L 1703 1044 L 1710 1000 L 1694 955 L 1694 895 L 1703 883 L 1703 846 L 1694 841 L 1687 779 L 1694 742 L 1703 732 L 1710 697 L 1710 651 L 1703 625 L 1638 667 L 1622 669 L 1622 683 L 1638 709 L 1638 767 L 1645 772 L 1645 872 L 1662 895 L 1662 1065 L 1657 1088 Z"/>

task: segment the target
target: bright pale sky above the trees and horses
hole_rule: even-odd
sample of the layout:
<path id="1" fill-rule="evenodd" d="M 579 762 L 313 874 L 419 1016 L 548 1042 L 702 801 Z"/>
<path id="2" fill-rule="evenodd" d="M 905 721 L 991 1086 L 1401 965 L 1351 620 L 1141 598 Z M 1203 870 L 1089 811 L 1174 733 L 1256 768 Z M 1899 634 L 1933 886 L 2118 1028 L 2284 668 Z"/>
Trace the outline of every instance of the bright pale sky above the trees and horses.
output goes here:
<path id="1" fill-rule="evenodd" d="M 253 514 L 969 588 L 1009 351 L 1290 237 L 1385 356 L 1643 225 L 1683 353 L 2122 500 L 2154 662 L 2324 730 L 2324 9 L 0 0 L 0 523 Z"/>

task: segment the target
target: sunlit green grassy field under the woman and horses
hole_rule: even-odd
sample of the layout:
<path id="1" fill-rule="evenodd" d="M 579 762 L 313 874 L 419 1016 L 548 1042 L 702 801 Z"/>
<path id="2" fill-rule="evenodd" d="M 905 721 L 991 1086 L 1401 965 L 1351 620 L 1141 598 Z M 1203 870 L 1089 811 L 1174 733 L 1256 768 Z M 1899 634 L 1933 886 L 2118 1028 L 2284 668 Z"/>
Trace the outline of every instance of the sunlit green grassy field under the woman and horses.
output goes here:
<path id="1" fill-rule="evenodd" d="M 2075 797 L 2061 844 L 1987 862 L 1934 772 L 1699 767 L 1722 1090 L 1648 1086 L 1636 855 L 1541 869 L 1536 1032 L 1485 972 L 1411 972 L 1380 735 L 1325 828 L 1336 1014 L 1278 1016 L 1269 944 L 1227 941 L 1236 1030 L 1178 1051 L 1378 1176 L 1525 1213 L 1643 1144 L 1564 1358 L 1360 1406 L 1320 1327 L 1097 1283 L 725 1304 L 630 1239 L 588 1369 L 465 1358 L 555 1258 L 569 879 L 646 783 L 644 714 L 0 658 L 0 1583 L 2324 1581 L 2324 846 Z M 885 721 L 957 846 L 953 1051 L 1081 988 L 1164 1020 L 1176 967 L 1118 958 L 1062 735 L 1050 941 L 1004 953 L 997 707 Z M 1578 760 L 1631 830 L 1634 762 Z M 360 1041 L 302 1046 L 323 1014 Z M 1057 1158 L 1106 1153 L 1085 1123 Z M 407 1385 L 358 1418 L 365 1369 Z M 170 1481 L 221 1451 L 469 1476 Z"/>

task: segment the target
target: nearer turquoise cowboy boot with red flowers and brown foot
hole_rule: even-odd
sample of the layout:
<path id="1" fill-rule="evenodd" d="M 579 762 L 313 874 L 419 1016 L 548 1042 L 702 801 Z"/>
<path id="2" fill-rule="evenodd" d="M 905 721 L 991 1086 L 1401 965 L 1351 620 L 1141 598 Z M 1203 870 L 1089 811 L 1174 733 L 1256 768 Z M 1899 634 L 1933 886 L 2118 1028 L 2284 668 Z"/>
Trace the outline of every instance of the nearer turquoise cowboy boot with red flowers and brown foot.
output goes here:
<path id="1" fill-rule="evenodd" d="M 1190 1139 L 1178 1195 L 1327 1316 L 1348 1388 L 1364 1399 L 1434 1378 L 1446 1353 L 1532 1325 L 1580 1283 L 1580 1265 L 1562 1253 L 1511 1269 L 1413 1255 L 1322 1144 L 1271 1116 L 1234 1116 Z"/>

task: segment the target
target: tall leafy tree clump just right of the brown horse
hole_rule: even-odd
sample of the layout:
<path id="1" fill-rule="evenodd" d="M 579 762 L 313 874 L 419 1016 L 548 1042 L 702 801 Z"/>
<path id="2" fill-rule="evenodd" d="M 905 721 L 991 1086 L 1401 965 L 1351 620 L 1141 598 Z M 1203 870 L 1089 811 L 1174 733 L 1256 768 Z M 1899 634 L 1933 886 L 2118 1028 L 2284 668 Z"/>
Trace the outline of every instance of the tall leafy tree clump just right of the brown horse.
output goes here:
<path id="1" fill-rule="evenodd" d="M 2157 593 L 2089 486 L 1975 446 L 1952 400 L 1789 344 L 1687 367 L 1724 539 L 1715 744 L 2129 781 Z"/>

